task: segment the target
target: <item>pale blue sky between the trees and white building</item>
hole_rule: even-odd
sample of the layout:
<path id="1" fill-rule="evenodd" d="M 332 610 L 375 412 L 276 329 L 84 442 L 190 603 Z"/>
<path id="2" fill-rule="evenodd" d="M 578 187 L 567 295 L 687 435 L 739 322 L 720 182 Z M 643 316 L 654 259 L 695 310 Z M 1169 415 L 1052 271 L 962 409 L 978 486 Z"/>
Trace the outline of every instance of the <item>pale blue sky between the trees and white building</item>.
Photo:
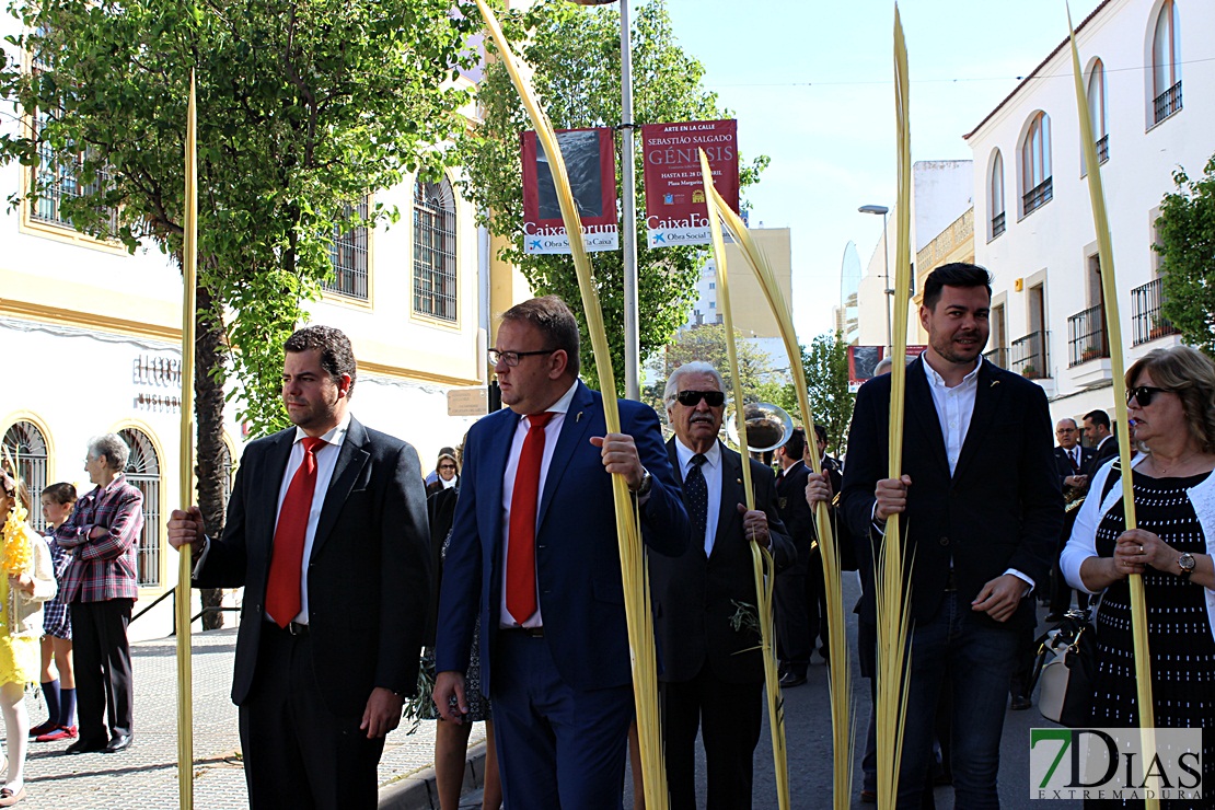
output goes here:
<path id="1" fill-rule="evenodd" d="M 1079 24 L 1101 0 L 1073 0 Z M 634 6 L 638 5 L 634 0 Z M 772 165 L 747 197 L 751 226 L 792 228 L 802 342 L 831 329 L 848 240 L 868 265 L 893 208 L 894 4 L 667 0 L 679 44 L 739 119 L 744 159 Z M 1067 36 L 1063 0 L 904 0 L 911 159 L 971 159 L 962 136 Z"/>

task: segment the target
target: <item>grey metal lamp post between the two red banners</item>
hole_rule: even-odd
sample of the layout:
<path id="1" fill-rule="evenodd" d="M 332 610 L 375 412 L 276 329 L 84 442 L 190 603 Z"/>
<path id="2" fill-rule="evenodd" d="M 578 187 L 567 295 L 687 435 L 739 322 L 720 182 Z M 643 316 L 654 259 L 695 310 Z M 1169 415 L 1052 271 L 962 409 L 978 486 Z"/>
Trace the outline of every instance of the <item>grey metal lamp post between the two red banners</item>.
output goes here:
<path id="1" fill-rule="evenodd" d="M 625 396 L 642 398 L 642 366 L 637 307 L 637 181 L 633 177 L 633 44 L 628 24 L 629 0 L 620 2 L 620 134 L 623 143 L 621 180 L 625 183 Z"/>

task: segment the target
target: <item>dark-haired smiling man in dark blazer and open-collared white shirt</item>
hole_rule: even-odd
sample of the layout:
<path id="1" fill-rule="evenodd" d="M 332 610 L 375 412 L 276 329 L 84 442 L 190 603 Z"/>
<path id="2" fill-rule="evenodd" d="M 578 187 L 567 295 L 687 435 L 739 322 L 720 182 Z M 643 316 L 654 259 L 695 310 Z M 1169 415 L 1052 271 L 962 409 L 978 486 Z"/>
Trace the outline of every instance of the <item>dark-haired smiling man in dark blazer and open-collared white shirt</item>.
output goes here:
<path id="1" fill-rule="evenodd" d="M 848 436 L 843 502 L 858 555 L 880 559 L 887 522 L 902 520 L 910 568 L 899 808 L 920 806 L 942 682 L 953 698 L 955 803 L 999 806 L 1017 628 L 1033 621 L 1027 597 L 1045 587 L 1062 529 L 1046 395 L 983 359 L 990 304 L 981 267 L 950 264 L 928 276 L 920 307 L 928 349 L 906 368 L 899 477 L 887 477 L 891 376 L 861 386 Z M 875 613 L 870 587 L 861 621 Z"/>

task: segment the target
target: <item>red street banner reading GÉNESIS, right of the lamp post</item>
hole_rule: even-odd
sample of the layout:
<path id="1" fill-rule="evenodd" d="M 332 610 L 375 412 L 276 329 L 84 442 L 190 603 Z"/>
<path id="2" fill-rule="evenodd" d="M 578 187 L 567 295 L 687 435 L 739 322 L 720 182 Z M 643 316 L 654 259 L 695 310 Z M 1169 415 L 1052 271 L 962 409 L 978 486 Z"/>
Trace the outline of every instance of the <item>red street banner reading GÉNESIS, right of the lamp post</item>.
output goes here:
<path id="1" fill-rule="evenodd" d="M 700 149 L 708 155 L 718 194 L 730 210 L 739 211 L 738 129 L 733 119 L 642 128 L 645 231 L 651 248 L 712 242 Z"/>

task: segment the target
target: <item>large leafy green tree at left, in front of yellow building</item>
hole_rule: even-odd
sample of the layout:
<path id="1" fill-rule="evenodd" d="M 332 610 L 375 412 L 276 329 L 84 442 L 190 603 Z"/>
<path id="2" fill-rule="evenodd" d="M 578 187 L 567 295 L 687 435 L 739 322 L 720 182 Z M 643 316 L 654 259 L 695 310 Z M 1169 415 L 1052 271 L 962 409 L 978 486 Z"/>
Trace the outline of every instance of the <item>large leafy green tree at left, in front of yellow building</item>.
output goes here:
<path id="1" fill-rule="evenodd" d="M 224 523 L 224 385 L 255 434 L 286 421 L 282 344 L 330 274 L 334 233 L 368 192 L 436 176 L 463 128 L 450 84 L 471 28 L 452 0 L 13 0 L 27 32 L 0 53 L 0 97 L 32 128 L 0 136 L 33 204 L 67 177 L 61 215 L 134 251 L 182 249 L 183 137 L 198 75 L 199 506 Z M 24 69 L 29 55 L 33 69 Z M 464 57 L 467 58 L 467 57 Z M 36 171 L 43 165 L 45 171 Z M 47 181 L 47 179 L 52 179 Z M 367 225 L 395 216 L 375 205 Z M 188 384 L 188 381 L 186 381 Z M 204 595 L 214 601 L 215 594 Z"/>

